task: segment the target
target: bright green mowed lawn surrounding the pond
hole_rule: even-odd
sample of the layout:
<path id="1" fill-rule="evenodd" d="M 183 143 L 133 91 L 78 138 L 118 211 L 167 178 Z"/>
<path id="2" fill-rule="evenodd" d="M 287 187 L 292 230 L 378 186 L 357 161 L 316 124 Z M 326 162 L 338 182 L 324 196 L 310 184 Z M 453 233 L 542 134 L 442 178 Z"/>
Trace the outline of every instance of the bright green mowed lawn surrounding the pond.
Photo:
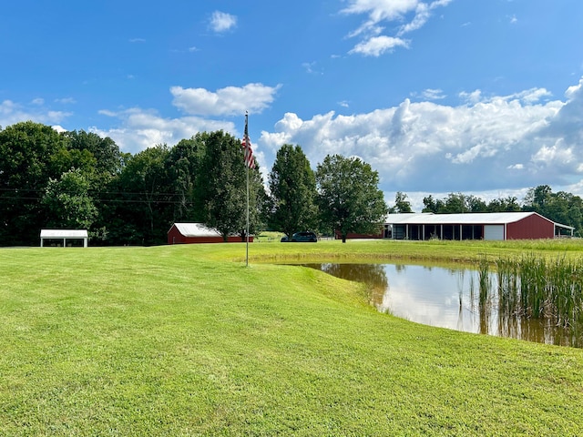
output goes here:
<path id="1" fill-rule="evenodd" d="M 0 435 L 581 435 L 583 351 L 414 324 L 259 262 L 525 250 L 550 249 L 253 243 L 249 267 L 244 244 L 0 249 Z"/>

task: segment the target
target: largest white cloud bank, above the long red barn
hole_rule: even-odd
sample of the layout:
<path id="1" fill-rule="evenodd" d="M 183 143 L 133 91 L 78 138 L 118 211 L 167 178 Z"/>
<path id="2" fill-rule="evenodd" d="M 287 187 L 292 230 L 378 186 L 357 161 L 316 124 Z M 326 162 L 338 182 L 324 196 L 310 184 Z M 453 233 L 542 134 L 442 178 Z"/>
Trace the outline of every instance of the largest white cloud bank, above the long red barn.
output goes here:
<path id="1" fill-rule="evenodd" d="M 583 178 L 583 79 L 567 95 L 564 102 L 544 101 L 544 88 L 487 98 L 475 91 L 460 106 L 405 99 L 353 116 L 288 113 L 260 143 L 272 153 L 299 144 L 314 168 L 327 154 L 362 157 L 385 191 L 566 186 Z"/>

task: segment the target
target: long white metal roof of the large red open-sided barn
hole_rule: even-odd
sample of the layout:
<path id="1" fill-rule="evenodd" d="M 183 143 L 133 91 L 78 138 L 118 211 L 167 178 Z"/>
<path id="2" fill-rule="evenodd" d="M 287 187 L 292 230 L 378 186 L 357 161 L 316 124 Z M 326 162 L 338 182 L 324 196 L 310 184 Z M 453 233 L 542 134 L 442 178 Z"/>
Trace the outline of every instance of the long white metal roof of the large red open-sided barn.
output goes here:
<path id="1" fill-rule="evenodd" d="M 402 225 L 505 225 L 515 223 L 529 216 L 537 215 L 554 223 L 536 212 L 468 212 L 465 214 L 432 214 L 432 213 L 412 213 L 412 214 L 389 214 L 386 217 L 387 224 Z M 558 223 L 556 223 L 559 225 Z M 560 225 L 570 228 L 566 225 Z"/>

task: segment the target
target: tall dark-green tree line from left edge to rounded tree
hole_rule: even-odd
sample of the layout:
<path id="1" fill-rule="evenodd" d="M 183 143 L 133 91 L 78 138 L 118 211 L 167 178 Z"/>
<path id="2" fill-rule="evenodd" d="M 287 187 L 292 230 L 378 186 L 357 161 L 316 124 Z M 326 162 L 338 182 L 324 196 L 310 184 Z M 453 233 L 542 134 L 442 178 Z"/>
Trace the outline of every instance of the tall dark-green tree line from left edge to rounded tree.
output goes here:
<path id="1" fill-rule="evenodd" d="M 359 158 L 331 155 L 314 171 L 301 147 L 284 145 L 265 184 L 243 156 L 223 131 L 132 155 L 83 130 L 0 128 L 0 246 L 35 246 L 40 229 L 87 229 L 92 245 L 164 244 L 175 222 L 243 240 L 247 189 L 251 234 L 337 231 L 345 240 L 383 223 L 378 173 Z"/>

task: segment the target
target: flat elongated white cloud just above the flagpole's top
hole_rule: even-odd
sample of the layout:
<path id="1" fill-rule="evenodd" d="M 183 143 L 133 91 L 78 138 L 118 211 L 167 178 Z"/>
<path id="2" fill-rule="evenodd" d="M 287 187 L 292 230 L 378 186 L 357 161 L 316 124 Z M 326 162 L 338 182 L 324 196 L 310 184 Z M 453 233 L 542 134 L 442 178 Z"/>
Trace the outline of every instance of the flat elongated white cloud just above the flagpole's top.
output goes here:
<path id="1" fill-rule="evenodd" d="M 260 113 L 269 107 L 280 86 L 248 84 L 227 86 L 216 92 L 205 88 L 183 88 L 172 86 L 173 105 L 183 112 L 199 116 L 232 116 Z"/>

